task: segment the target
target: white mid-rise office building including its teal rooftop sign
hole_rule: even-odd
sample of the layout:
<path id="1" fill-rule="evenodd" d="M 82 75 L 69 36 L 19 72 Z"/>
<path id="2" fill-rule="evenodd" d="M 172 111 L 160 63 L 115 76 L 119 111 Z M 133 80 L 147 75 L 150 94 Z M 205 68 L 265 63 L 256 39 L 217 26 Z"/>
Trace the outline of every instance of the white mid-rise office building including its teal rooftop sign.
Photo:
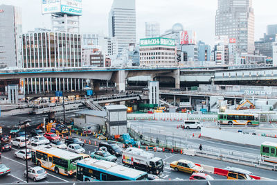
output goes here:
<path id="1" fill-rule="evenodd" d="M 176 66 L 175 40 L 146 38 L 140 40 L 140 65 L 142 67 Z"/>

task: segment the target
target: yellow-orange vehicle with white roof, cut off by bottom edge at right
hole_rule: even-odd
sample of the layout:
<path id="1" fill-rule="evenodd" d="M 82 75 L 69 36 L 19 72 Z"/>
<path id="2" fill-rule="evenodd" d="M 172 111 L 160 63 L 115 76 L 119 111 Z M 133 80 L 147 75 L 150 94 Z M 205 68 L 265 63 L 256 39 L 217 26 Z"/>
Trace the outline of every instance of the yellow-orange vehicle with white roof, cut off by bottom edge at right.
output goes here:
<path id="1" fill-rule="evenodd" d="M 232 168 L 227 167 L 226 170 L 229 170 L 227 179 L 229 180 L 253 180 L 252 177 L 250 177 L 250 172 L 247 170 L 242 170 L 240 168 Z"/>

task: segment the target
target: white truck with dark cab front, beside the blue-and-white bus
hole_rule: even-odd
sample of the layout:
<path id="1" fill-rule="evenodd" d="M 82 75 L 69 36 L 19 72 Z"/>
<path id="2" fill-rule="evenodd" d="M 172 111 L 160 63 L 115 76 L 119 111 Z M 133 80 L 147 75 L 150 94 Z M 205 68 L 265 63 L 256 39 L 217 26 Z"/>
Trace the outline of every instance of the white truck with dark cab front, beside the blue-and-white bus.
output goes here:
<path id="1" fill-rule="evenodd" d="M 139 148 L 130 147 L 124 150 L 122 163 L 130 168 L 136 168 L 155 175 L 163 172 L 163 159 L 154 157 L 152 153 L 145 152 Z"/>

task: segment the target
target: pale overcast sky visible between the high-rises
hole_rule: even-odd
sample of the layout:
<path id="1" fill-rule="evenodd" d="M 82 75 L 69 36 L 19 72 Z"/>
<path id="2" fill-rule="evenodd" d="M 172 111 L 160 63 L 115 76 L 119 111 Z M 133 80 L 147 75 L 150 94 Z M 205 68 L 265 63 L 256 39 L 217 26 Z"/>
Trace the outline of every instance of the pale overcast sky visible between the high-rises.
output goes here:
<path id="1" fill-rule="evenodd" d="M 82 33 L 108 33 L 108 15 L 113 0 L 82 0 Z M 23 30 L 51 28 L 49 15 L 42 15 L 41 0 L 0 0 L 22 8 Z M 262 37 L 268 24 L 277 24 L 276 0 L 253 0 L 255 39 Z M 145 21 L 158 21 L 161 33 L 179 22 L 184 29 L 195 30 L 197 39 L 214 42 L 217 0 L 136 0 L 137 37 L 144 37 Z"/>

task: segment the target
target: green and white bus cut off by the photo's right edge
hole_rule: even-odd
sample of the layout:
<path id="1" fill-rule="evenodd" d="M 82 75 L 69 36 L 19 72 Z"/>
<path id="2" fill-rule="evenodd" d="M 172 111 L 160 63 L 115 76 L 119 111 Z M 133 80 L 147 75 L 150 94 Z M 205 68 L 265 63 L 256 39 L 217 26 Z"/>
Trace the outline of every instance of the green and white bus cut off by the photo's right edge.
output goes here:
<path id="1" fill-rule="evenodd" d="M 262 143 L 260 146 L 260 155 L 264 161 L 277 164 L 277 143 Z"/>

